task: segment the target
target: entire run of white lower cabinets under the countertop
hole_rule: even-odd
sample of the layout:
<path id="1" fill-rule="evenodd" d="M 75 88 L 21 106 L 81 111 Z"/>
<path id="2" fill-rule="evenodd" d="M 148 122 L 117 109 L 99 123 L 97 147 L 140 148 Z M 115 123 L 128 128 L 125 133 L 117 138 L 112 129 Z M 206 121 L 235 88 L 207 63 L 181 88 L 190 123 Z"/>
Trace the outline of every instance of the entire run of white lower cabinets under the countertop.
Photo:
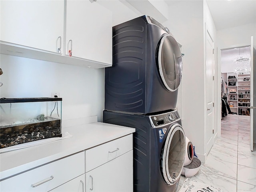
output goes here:
<path id="1" fill-rule="evenodd" d="M 132 134 L 0 182 L 0 192 L 132 192 Z"/>

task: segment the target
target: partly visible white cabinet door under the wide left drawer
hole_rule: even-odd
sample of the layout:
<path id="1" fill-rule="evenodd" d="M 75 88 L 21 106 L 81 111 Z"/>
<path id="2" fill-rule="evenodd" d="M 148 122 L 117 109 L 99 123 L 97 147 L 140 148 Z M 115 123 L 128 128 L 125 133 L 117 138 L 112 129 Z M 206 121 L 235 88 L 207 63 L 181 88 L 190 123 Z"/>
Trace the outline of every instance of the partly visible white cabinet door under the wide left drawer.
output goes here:
<path id="1" fill-rule="evenodd" d="M 85 175 L 72 179 L 71 181 L 50 190 L 50 192 L 84 192 L 85 188 Z"/>

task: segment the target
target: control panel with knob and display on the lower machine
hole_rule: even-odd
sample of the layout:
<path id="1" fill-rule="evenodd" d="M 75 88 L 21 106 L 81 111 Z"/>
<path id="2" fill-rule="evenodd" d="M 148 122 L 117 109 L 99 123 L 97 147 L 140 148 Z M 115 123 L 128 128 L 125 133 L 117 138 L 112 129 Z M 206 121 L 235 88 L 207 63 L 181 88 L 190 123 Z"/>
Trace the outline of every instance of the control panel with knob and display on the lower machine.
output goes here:
<path id="1" fill-rule="evenodd" d="M 152 115 L 149 116 L 149 118 L 153 127 L 160 127 L 180 120 L 180 115 L 178 114 L 178 111 L 175 110 L 168 113 Z"/>

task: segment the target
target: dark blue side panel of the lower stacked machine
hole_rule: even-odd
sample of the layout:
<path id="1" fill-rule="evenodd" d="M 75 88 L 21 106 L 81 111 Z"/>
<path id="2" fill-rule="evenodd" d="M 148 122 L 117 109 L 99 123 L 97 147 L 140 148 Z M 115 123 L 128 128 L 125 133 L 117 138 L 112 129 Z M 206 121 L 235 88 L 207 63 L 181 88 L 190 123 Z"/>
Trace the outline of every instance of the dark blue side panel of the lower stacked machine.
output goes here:
<path id="1" fill-rule="evenodd" d="M 159 167 L 159 160 L 151 162 L 151 152 L 156 153 L 157 149 L 155 144 L 151 146 L 152 126 L 149 118 L 144 115 L 136 116 L 104 110 L 103 122 L 136 129 L 133 134 L 134 192 L 156 192 L 157 190 L 152 190 L 152 185 L 157 185 L 158 174 L 150 166 L 153 164 L 154 167 Z M 158 159 L 157 156 L 155 154 L 154 159 Z"/>

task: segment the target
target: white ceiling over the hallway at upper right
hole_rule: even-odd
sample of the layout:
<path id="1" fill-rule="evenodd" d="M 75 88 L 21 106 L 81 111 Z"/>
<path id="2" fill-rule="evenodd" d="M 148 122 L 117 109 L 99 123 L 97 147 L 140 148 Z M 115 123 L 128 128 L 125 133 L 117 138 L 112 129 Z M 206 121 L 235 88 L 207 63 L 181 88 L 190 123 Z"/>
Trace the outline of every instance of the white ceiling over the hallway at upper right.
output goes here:
<path id="1" fill-rule="evenodd" d="M 256 0 L 206 0 L 217 30 L 256 22 Z"/>

